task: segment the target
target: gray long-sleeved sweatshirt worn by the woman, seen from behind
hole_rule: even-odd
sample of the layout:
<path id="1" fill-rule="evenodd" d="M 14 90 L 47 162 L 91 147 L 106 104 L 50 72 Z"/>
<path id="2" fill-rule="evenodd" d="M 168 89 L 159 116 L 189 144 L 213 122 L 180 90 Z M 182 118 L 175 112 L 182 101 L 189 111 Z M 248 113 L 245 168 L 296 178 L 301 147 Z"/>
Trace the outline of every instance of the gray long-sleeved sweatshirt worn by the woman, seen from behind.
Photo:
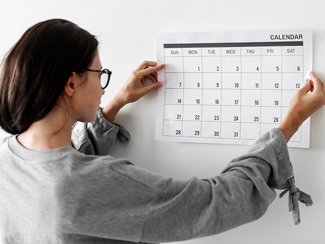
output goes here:
<path id="1" fill-rule="evenodd" d="M 278 129 L 210 179 L 177 180 L 108 156 L 128 133 L 99 111 L 73 145 L 0 143 L 0 243 L 169 242 L 214 235 L 264 215 L 293 175 Z M 215 159 L 217 161 L 217 159 Z M 217 172 L 216 172 L 217 174 Z"/>

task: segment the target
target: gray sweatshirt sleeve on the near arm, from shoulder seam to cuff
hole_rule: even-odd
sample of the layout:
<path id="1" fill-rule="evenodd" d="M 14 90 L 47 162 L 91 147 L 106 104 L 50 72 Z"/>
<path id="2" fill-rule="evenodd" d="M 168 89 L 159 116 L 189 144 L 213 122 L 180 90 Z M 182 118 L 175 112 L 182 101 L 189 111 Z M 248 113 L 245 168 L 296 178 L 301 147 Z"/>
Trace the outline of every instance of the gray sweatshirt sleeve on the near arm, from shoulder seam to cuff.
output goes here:
<path id="1" fill-rule="evenodd" d="M 153 201 L 141 241 L 169 242 L 209 236 L 262 217 L 273 188 L 293 175 L 286 141 L 278 129 L 259 138 L 247 154 L 210 179 L 169 179 Z"/>

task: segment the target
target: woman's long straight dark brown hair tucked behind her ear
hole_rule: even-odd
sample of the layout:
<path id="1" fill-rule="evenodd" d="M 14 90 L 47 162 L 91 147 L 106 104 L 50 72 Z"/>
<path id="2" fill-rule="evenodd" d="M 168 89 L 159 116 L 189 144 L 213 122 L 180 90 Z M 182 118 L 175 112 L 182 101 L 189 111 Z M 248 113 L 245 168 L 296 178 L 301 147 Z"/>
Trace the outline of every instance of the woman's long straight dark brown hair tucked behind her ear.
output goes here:
<path id="1" fill-rule="evenodd" d="M 72 72 L 91 65 L 96 38 L 63 19 L 40 22 L 23 34 L 4 59 L 0 77 L 0 126 L 20 134 L 55 105 Z"/>

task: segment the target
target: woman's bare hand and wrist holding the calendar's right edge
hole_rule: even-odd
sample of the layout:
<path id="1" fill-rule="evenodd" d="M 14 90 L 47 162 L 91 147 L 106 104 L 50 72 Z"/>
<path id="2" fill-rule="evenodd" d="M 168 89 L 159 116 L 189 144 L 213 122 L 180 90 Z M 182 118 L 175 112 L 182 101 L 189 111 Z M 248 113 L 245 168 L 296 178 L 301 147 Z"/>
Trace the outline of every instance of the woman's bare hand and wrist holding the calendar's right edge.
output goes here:
<path id="1" fill-rule="evenodd" d="M 325 82 L 317 78 L 313 72 L 309 75 L 311 80 L 307 79 L 305 85 L 297 90 L 279 126 L 287 142 L 310 115 L 325 105 Z"/>

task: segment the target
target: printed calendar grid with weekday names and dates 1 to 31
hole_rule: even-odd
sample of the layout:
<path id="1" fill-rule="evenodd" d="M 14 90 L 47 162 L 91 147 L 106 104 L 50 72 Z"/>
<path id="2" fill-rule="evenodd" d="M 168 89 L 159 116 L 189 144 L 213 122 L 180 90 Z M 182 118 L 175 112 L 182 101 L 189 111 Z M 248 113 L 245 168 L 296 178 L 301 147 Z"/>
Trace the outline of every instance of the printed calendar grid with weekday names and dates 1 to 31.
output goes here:
<path id="1" fill-rule="evenodd" d="M 297 47 L 300 46 L 302 46 L 303 50 L 303 42 L 164 44 L 165 63 L 171 63 L 171 66 L 167 66 L 165 69 L 165 80 L 168 82 L 170 80 L 173 80 L 174 83 L 169 82 L 165 89 L 165 106 L 162 135 L 178 137 L 206 137 L 255 140 L 256 136 L 258 137 L 264 133 L 264 131 L 266 130 L 265 128 L 269 128 L 269 126 L 267 125 L 273 126 L 281 124 L 281 121 L 284 117 L 283 107 L 288 107 L 288 105 L 286 104 L 285 106 L 283 105 L 283 101 L 286 98 L 283 94 L 283 75 L 288 74 L 290 76 L 297 73 L 302 74 L 303 77 L 303 62 L 301 64 L 301 72 L 299 72 L 300 66 L 298 66 L 298 72 L 283 71 L 283 48 L 291 47 L 291 50 L 295 50 L 297 49 Z M 243 49 L 247 47 L 250 47 L 251 49 Z M 263 49 L 263 47 L 269 49 Z M 211 49 L 211 53 L 209 53 L 210 49 L 208 48 Z M 166 50 L 171 51 L 172 55 L 174 54 L 174 56 L 166 55 L 166 53 L 168 53 Z M 244 53 L 245 50 L 247 51 L 247 53 Z M 267 52 L 270 51 L 270 53 L 263 54 L 263 52 L 266 50 Z M 280 53 L 273 54 L 275 50 L 280 51 Z M 259 55 L 250 55 L 248 51 L 256 51 L 257 54 L 259 53 Z M 216 52 L 218 52 L 219 55 L 213 55 Z M 211 55 L 204 55 L 204 53 L 208 53 Z M 237 55 L 236 53 L 239 53 L 239 55 Z M 302 55 L 295 54 L 292 56 L 294 56 L 295 58 L 302 56 L 303 60 L 303 51 Z M 174 62 L 175 67 L 177 67 L 177 60 L 180 60 L 178 59 L 178 57 L 181 57 L 181 62 L 179 63 L 181 65 L 179 66 L 180 68 L 174 69 L 172 65 Z M 286 55 L 286 57 L 290 57 L 290 55 Z M 287 59 L 290 61 L 293 58 Z M 238 60 L 238 65 L 234 66 L 233 63 L 236 63 L 236 60 Z M 273 65 L 273 63 L 275 64 L 277 60 L 281 60 L 281 63 L 278 66 L 275 66 L 276 70 L 271 71 L 270 67 L 265 66 L 265 64 L 268 63 Z M 210 63 L 208 61 L 211 61 L 212 63 L 215 62 L 216 67 L 214 68 L 217 68 L 217 71 L 209 71 L 211 67 L 209 66 Z M 249 62 L 252 63 L 251 66 Z M 252 72 L 252 70 L 255 69 L 253 67 L 253 65 L 255 65 L 254 62 L 257 62 L 257 68 L 256 66 L 254 66 L 257 71 Z M 198 69 L 196 71 L 193 70 L 196 68 L 195 65 L 193 65 L 192 63 L 199 65 L 197 66 Z M 207 68 L 205 66 L 207 66 Z M 232 67 L 236 67 L 236 69 L 233 69 Z M 244 75 L 246 77 L 245 82 L 243 81 Z M 268 75 L 271 77 L 279 78 L 279 82 L 274 83 L 275 87 L 273 88 L 271 88 L 272 78 L 270 78 L 270 80 L 264 80 L 269 79 L 267 78 Z M 247 86 L 246 83 L 249 82 L 247 82 L 246 79 L 249 76 L 257 77 L 255 87 Z M 218 81 L 214 81 L 214 79 L 208 79 L 207 77 L 218 77 L 216 79 Z M 217 82 L 216 87 L 214 88 L 211 87 L 211 84 L 213 83 L 212 80 L 214 82 Z M 234 86 L 231 87 L 231 82 L 234 81 Z M 297 83 L 296 88 L 299 88 L 299 84 L 302 83 Z M 245 90 L 247 90 L 248 93 L 244 93 Z M 274 100 L 274 105 L 271 106 L 271 104 L 273 103 L 271 100 L 276 99 L 276 94 L 278 90 L 281 90 L 279 97 L 280 99 Z M 286 94 L 289 94 L 288 92 L 290 90 L 294 91 L 296 89 L 292 87 L 286 87 Z M 177 97 L 179 91 L 182 92 L 182 95 Z M 249 104 L 253 101 L 250 101 L 247 98 L 247 94 L 249 93 L 255 94 L 254 105 Z M 206 97 L 206 94 L 211 94 L 211 96 L 216 97 L 214 97 L 215 99 L 211 99 L 210 97 Z M 173 100 L 174 96 L 175 98 L 177 97 L 177 100 Z M 233 105 L 231 104 L 231 99 L 229 98 L 230 96 L 234 96 L 235 98 Z M 265 98 L 265 96 L 269 96 L 270 98 L 267 99 Z M 273 98 L 272 96 L 275 97 Z M 212 105 L 211 103 L 214 101 L 215 104 Z M 255 108 L 258 108 L 259 110 L 256 110 Z M 208 114 L 206 112 L 206 110 L 212 111 L 211 114 L 213 114 L 214 119 L 211 117 L 211 114 Z M 259 112 L 255 115 L 250 112 L 250 110 L 256 110 Z M 276 114 L 274 118 L 272 118 L 274 119 L 273 123 L 271 123 L 270 118 L 267 119 L 267 115 L 270 112 L 269 110 L 272 110 Z M 180 112 L 178 113 L 177 111 Z M 192 115 L 189 115 L 191 113 Z M 176 116 L 173 114 L 175 114 Z M 210 116 L 210 118 L 205 119 L 205 117 L 208 117 L 208 115 Z M 192 117 L 189 119 L 190 116 Z M 244 118 L 245 116 L 246 118 Z M 250 119 L 254 118 L 254 120 L 249 121 L 249 116 Z M 171 117 L 173 118 L 171 119 Z M 232 117 L 234 121 L 231 121 Z M 168 124 L 166 124 L 165 122 Z M 176 134 L 175 128 L 180 128 L 176 129 Z M 255 133 L 256 136 L 254 135 L 254 138 L 250 138 L 250 135 L 247 133 L 247 128 L 256 128 L 256 131 L 258 131 L 258 133 Z M 234 134 L 227 134 L 226 130 L 232 130 Z M 246 134 L 244 134 L 244 132 L 246 132 Z M 190 133 L 192 133 L 192 135 Z M 298 141 L 299 140 L 301 140 L 301 136 L 300 138 L 298 138 Z"/>

